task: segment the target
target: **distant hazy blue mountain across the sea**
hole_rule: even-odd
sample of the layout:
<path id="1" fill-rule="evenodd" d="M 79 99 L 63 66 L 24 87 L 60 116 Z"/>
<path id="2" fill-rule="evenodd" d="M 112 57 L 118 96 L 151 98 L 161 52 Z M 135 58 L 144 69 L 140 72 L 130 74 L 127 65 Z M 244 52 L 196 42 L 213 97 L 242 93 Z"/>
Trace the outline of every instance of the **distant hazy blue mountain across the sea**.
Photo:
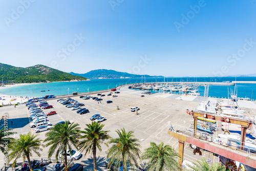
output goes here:
<path id="1" fill-rule="evenodd" d="M 163 76 L 129 74 L 129 73 L 126 73 L 126 72 L 118 72 L 118 71 L 114 71 L 114 70 L 105 70 L 105 69 L 92 70 L 92 71 L 90 71 L 88 73 L 85 73 L 85 74 L 77 74 L 77 73 L 73 73 L 73 72 L 71 72 L 70 74 L 77 75 L 77 76 L 82 76 L 82 77 L 87 77 L 87 78 L 120 78 L 120 77 L 153 78 L 153 77 L 163 77 Z"/>

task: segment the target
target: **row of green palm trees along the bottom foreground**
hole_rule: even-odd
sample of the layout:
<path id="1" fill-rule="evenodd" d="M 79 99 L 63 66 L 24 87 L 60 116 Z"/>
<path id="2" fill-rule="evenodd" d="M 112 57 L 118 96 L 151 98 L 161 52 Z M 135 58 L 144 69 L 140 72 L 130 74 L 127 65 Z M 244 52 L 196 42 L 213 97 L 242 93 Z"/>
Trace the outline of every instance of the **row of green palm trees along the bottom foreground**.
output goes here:
<path id="1" fill-rule="evenodd" d="M 54 125 L 51 130 L 46 133 L 46 139 L 44 141 L 37 138 L 37 135 L 32 135 L 31 132 L 19 135 L 18 139 L 9 138 L 8 141 L 10 143 L 8 149 L 11 152 L 9 154 L 9 160 L 14 159 L 14 162 L 16 162 L 18 158 L 23 158 L 24 160 L 27 158 L 29 168 L 32 171 L 30 161 L 32 154 L 35 153 L 40 157 L 42 147 L 50 146 L 48 158 L 51 158 L 53 154 L 56 153 L 55 158 L 57 160 L 58 154 L 62 153 L 63 157 L 65 157 L 65 168 L 67 170 L 67 150 L 71 150 L 72 146 L 74 146 L 81 152 L 85 151 L 85 155 L 92 152 L 94 170 L 97 170 L 96 152 L 97 149 L 101 152 L 101 145 L 105 144 L 107 147 L 111 145 L 106 152 L 107 158 L 110 158 L 109 163 L 112 164 L 114 160 L 119 161 L 118 167 L 120 167 L 120 163 L 122 162 L 123 170 L 127 170 L 128 165 L 138 166 L 138 159 L 140 159 L 140 161 L 147 161 L 147 170 L 179 170 L 181 168 L 177 162 L 180 156 L 174 148 L 169 145 L 164 145 L 163 142 L 160 144 L 151 142 L 150 147 L 146 148 L 144 152 L 141 153 L 140 141 L 135 138 L 133 131 L 126 132 L 123 128 L 116 131 L 118 134 L 117 138 L 112 138 L 108 134 L 109 131 L 103 130 L 104 124 L 92 122 L 86 124 L 86 126 L 84 131 L 81 131 L 79 124 L 74 122 L 69 124 L 69 121 L 66 121 L 65 124 Z M 2 131 L 3 129 L 0 130 L 0 141 Z M 9 135 L 14 134 L 14 132 L 11 131 L 12 130 L 9 129 Z M 0 142 L 0 147 L 3 147 L 2 141 Z M 219 169 L 219 167 L 217 168 L 218 170 L 222 170 Z"/>

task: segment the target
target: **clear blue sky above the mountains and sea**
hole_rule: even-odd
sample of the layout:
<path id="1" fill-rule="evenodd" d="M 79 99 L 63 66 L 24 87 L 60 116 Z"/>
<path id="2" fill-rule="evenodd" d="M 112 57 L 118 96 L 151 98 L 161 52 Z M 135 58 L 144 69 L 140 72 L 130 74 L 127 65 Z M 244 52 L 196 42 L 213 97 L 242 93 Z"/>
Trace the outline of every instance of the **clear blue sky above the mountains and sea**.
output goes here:
<path id="1" fill-rule="evenodd" d="M 254 74 L 255 2 L 2 0 L 0 62 L 75 73 Z"/>

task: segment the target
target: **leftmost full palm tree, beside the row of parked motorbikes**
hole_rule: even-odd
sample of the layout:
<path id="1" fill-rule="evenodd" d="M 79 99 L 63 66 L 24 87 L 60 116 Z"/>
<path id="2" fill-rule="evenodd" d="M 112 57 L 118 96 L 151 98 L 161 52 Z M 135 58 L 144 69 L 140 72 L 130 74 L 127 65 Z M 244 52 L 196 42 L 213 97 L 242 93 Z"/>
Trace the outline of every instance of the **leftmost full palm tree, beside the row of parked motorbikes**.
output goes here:
<path id="1" fill-rule="evenodd" d="M 30 161 L 30 156 L 32 156 L 32 152 L 37 154 L 40 157 L 39 151 L 42 151 L 40 146 L 42 146 L 39 138 L 36 138 L 37 135 L 31 135 L 31 132 L 28 134 L 20 134 L 18 139 L 11 140 L 9 144 L 9 149 L 11 153 L 9 154 L 9 159 L 14 159 L 14 162 L 17 161 L 18 158 L 22 157 L 23 160 L 27 157 L 29 168 L 32 171 L 32 165 Z"/>

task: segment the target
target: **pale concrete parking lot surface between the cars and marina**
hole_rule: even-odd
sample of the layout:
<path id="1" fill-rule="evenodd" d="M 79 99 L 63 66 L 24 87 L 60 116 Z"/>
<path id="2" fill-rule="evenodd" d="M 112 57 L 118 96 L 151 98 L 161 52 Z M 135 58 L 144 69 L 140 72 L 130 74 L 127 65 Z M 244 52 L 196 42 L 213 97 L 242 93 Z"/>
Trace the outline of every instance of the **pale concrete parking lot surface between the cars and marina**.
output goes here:
<path id="1" fill-rule="evenodd" d="M 104 130 L 110 131 L 112 137 L 117 137 L 115 130 L 125 128 L 126 131 L 134 131 L 136 138 L 140 140 L 141 151 L 144 148 L 150 146 L 150 142 L 164 142 L 173 146 L 178 151 L 178 140 L 169 136 L 167 133 L 169 123 L 176 123 L 183 126 L 189 126 L 193 121 L 193 117 L 186 114 L 187 106 L 197 106 L 198 101 L 181 100 L 179 97 L 176 98 L 166 98 L 169 97 L 166 94 L 157 93 L 153 95 L 145 95 L 145 97 L 140 97 L 138 91 L 132 91 L 128 89 L 118 90 L 121 93 L 117 94 L 118 97 L 104 96 L 101 102 L 95 100 L 83 100 L 79 97 L 72 97 L 73 99 L 84 103 L 85 106 L 82 108 L 89 109 L 87 114 L 77 114 L 76 111 L 71 111 L 71 108 L 66 108 L 65 105 L 58 103 L 55 99 L 48 100 L 49 104 L 53 105 L 53 109 L 44 110 L 45 113 L 50 111 L 56 111 L 56 115 L 48 116 L 49 122 L 56 124 L 60 121 L 69 120 L 71 122 L 79 123 L 81 129 L 86 127 L 87 123 L 91 123 L 90 117 L 94 114 L 100 114 L 105 116 L 106 120 L 102 123 L 105 124 Z M 105 95 L 108 93 L 104 93 Z M 98 97 L 97 95 L 92 95 L 93 97 Z M 165 97 L 166 96 L 166 97 Z M 172 95 L 171 95 L 172 96 Z M 183 96 L 184 97 L 184 96 Z M 107 100 L 112 100 L 113 103 L 106 103 Z M 192 99 L 193 100 L 193 99 Z M 119 110 L 117 110 L 117 106 Z M 140 110 L 138 114 L 136 112 L 131 112 L 131 107 L 138 106 Z M 12 127 L 14 131 L 17 132 L 14 137 L 18 137 L 18 134 L 24 134 L 28 132 L 33 132 L 37 134 L 42 140 L 45 139 L 45 132 L 34 133 L 34 129 L 29 127 L 30 120 L 28 118 L 28 110 L 25 105 L 19 105 L 17 108 L 14 106 L 6 106 L 1 108 L 0 116 L 8 114 L 9 121 L 8 126 Z M 13 121 L 13 125 L 10 122 Z M 41 157 L 43 159 L 47 158 L 49 147 L 44 148 L 41 152 Z M 106 146 L 102 146 L 102 152 L 97 152 L 99 161 L 99 170 L 106 169 L 104 167 L 104 160 L 106 157 Z M 184 159 L 188 161 L 196 161 L 205 157 L 206 160 L 216 161 L 216 157 L 209 152 L 203 152 L 202 156 L 193 155 L 193 150 L 190 149 L 189 144 L 185 145 Z M 84 153 L 83 153 L 84 154 Z M 2 155 L 2 156 L 1 156 Z M 0 159 L 3 158 L 3 154 L 0 154 Z M 37 156 L 33 155 L 32 158 L 38 159 Z M 55 158 L 54 156 L 52 158 Z M 40 158 L 39 158 L 40 159 Z M 0 161 L 3 163 L 3 160 Z M 84 164 L 84 170 L 93 170 L 92 156 L 82 156 L 78 161 Z"/>

